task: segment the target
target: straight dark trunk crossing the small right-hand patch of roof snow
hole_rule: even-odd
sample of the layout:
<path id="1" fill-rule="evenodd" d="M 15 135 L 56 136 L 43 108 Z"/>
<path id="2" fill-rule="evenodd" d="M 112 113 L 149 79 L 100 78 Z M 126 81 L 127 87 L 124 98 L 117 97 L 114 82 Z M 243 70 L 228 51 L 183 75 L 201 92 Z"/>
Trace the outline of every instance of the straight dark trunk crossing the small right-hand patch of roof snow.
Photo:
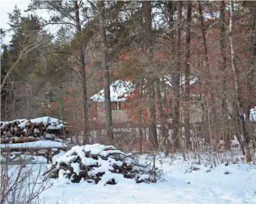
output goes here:
<path id="1" fill-rule="evenodd" d="M 192 2 L 188 1 L 188 12 L 187 12 L 187 27 L 186 27 L 186 60 L 185 60 L 185 142 L 186 149 L 191 149 L 191 135 L 190 135 L 190 58 L 191 58 L 191 13 L 192 13 Z"/>

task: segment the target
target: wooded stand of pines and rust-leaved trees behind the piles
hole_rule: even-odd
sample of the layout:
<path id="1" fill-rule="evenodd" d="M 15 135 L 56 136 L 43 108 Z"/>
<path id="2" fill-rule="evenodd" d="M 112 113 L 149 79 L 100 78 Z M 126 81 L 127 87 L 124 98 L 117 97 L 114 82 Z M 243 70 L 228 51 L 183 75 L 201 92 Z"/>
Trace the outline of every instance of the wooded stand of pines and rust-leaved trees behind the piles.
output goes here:
<path id="1" fill-rule="evenodd" d="M 196 116 L 205 141 L 222 139 L 230 148 L 236 135 L 252 160 L 255 1 L 32 1 L 26 11 L 23 16 L 15 7 L 10 30 L 1 29 L 5 120 L 72 116 L 82 124 L 86 144 L 89 98 L 104 88 L 107 137 L 113 143 L 110 84 L 129 79 L 136 97 L 127 111 L 136 116 L 141 150 L 145 123 L 152 149 L 192 149 Z M 39 11 L 47 16 L 39 18 Z M 8 31 L 13 36 L 5 44 Z"/>

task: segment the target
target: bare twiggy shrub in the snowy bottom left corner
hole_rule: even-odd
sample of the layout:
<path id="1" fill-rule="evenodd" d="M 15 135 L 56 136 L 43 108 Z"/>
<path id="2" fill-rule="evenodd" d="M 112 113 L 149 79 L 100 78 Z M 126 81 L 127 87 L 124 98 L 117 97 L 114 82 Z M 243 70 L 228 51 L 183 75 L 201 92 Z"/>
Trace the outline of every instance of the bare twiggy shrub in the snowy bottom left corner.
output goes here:
<path id="1" fill-rule="evenodd" d="M 49 179 L 42 176 L 42 167 L 26 165 L 26 161 L 10 165 L 8 159 L 1 163 L 1 204 L 39 203 L 39 195 L 52 186 Z"/>

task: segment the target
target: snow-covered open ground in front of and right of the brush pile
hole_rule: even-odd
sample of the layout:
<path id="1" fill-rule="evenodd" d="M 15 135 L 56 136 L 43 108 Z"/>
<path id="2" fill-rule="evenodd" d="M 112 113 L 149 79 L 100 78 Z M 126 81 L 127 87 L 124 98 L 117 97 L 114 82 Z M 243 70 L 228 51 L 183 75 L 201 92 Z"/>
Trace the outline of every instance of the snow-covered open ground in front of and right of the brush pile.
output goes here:
<path id="1" fill-rule="evenodd" d="M 63 154 L 64 152 L 60 153 Z M 54 160 L 60 155 L 56 155 Z M 201 165 L 194 164 L 193 160 L 184 161 L 181 155 L 158 158 L 157 166 L 164 171 L 163 181 L 151 184 L 138 184 L 132 179 L 122 179 L 115 185 L 104 186 L 86 181 L 66 184 L 61 180 L 51 179 L 53 185 L 40 195 L 40 202 L 256 203 L 256 165 L 224 163 L 214 167 L 205 162 L 201 160 Z M 46 164 L 34 164 L 33 168 L 36 169 L 39 165 L 43 168 L 50 167 Z"/>

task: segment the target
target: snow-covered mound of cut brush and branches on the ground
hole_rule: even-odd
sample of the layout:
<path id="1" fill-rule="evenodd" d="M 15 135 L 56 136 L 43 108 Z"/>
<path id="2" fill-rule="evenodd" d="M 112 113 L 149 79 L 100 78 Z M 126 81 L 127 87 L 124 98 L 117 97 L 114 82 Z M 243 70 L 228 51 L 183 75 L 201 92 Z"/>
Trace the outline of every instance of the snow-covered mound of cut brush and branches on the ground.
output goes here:
<path id="1" fill-rule="evenodd" d="M 58 178 L 62 183 L 117 184 L 126 178 L 136 183 L 155 182 L 150 164 L 136 161 L 114 146 L 100 144 L 73 146 L 59 157 L 44 176 Z"/>

